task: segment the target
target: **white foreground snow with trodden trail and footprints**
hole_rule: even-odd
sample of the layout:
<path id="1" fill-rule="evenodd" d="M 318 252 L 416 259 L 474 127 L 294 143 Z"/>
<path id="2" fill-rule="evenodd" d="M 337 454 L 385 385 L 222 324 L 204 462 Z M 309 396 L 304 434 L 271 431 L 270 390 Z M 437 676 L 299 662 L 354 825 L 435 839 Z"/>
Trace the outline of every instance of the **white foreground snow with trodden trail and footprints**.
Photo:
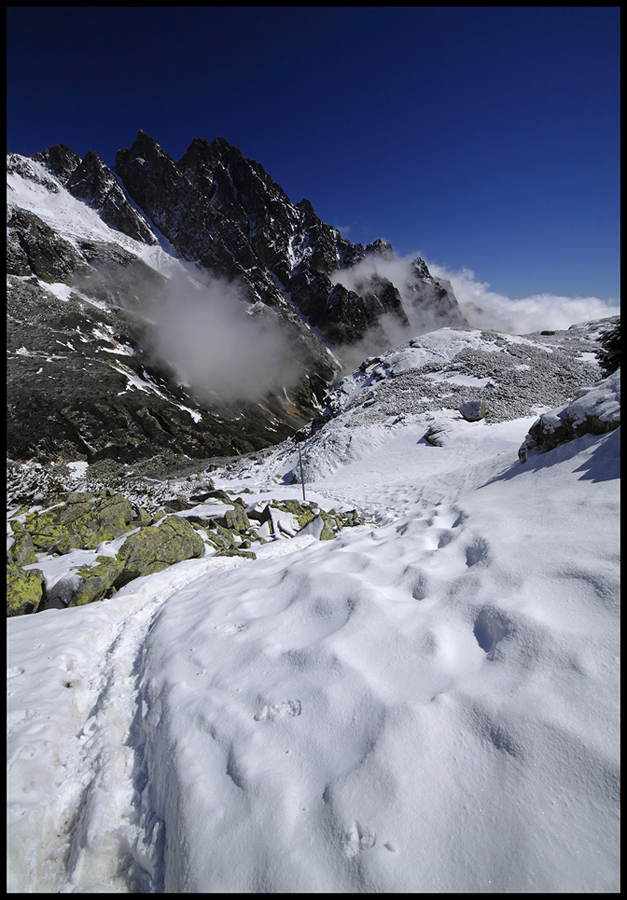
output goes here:
<path id="1" fill-rule="evenodd" d="M 367 525 L 8 620 L 9 890 L 619 890 L 620 429 L 436 419 L 303 443 Z"/>

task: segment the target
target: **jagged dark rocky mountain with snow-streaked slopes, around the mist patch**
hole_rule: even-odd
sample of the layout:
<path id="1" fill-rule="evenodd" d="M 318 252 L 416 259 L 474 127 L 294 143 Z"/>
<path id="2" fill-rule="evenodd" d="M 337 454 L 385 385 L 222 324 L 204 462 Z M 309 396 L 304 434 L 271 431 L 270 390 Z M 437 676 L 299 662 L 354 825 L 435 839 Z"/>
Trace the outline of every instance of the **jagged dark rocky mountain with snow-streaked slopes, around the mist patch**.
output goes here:
<path id="1" fill-rule="evenodd" d="M 81 159 L 58 144 L 32 158 L 10 154 L 7 171 L 15 459 L 250 452 L 316 413 L 343 346 L 367 338 L 387 349 L 390 323 L 396 336 L 417 320 L 465 322 L 450 286 L 422 260 L 393 284 L 376 270 L 389 244 L 343 239 L 223 138 L 195 139 L 175 163 L 140 131 L 114 169 L 93 150 Z M 369 270 L 352 287 L 337 280 L 364 261 Z M 235 286 L 246 315 L 280 335 L 290 380 L 253 402 L 225 402 L 157 358 L 146 309 L 175 271 Z"/>

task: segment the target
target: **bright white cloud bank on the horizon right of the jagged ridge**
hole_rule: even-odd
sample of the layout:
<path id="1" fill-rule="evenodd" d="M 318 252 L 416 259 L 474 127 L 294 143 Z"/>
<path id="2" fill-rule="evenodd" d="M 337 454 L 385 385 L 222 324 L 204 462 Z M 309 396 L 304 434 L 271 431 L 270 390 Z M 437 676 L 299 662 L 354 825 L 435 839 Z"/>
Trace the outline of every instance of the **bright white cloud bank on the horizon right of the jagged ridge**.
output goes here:
<path id="1" fill-rule="evenodd" d="M 476 328 L 492 328 L 509 334 L 562 330 L 578 322 L 604 319 L 620 314 L 620 306 L 598 297 L 560 297 L 534 294 L 510 300 L 490 290 L 487 282 L 477 281 L 471 269 L 452 272 L 428 263 L 436 278 L 450 281 L 457 301 L 468 322 Z"/>

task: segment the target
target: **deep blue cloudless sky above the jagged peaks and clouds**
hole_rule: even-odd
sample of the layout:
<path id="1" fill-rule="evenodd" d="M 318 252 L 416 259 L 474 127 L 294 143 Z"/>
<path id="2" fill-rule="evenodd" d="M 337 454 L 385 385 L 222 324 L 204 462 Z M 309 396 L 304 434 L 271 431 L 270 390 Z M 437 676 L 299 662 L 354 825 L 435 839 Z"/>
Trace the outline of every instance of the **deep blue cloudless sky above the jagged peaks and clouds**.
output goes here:
<path id="1" fill-rule="evenodd" d="M 222 135 L 353 241 L 619 296 L 618 7 L 10 7 L 7 149 Z"/>

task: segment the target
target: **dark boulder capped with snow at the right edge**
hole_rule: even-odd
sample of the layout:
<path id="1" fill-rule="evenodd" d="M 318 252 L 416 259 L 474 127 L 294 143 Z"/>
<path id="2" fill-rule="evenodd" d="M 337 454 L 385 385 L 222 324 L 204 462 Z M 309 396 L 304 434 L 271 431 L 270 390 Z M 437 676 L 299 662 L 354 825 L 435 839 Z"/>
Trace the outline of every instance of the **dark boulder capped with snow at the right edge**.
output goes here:
<path id="1" fill-rule="evenodd" d="M 567 406 L 543 413 L 529 429 L 518 457 L 525 462 L 530 452 L 546 453 L 584 434 L 605 434 L 619 425 L 620 368 L 579 391 Z"/>

